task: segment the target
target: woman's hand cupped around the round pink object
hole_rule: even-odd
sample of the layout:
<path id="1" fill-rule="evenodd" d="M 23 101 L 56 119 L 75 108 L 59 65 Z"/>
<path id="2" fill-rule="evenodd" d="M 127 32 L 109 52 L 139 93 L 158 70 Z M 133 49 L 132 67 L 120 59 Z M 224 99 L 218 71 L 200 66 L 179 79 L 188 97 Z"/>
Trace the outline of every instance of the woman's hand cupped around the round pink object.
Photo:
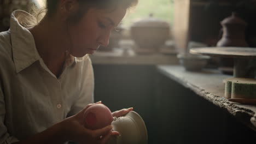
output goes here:
<path id="1" fill-rule="evenodd" d="M 99 101 L 98 103 L 101 103 Z M 95 104 L 98 104 L 95 103 Z M 119 135 L 117 131 L 112 131 L 112 125 L 108 125 L 102 129 L 90 130 L 84 127 L 84 111 L 94 104 L 89 104 L 82 111 L 72 117 L 66 118 L 60 122 L 61 133 L 68 141 L 84 143 L 106 143 L 110 136 Z"/>

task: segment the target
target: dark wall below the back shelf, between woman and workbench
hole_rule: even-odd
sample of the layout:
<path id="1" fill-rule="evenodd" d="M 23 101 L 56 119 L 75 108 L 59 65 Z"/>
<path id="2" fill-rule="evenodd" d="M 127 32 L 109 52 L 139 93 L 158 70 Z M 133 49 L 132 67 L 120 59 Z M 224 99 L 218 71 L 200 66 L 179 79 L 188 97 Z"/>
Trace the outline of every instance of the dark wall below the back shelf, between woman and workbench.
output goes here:
<path id="1" fill-rule="evenodd" d="M 148 126 L 154 139 L 155 67 L 143 65 L 93 65 L 95 101 L 102 100 L 111 111 L 133 107 Z"/>

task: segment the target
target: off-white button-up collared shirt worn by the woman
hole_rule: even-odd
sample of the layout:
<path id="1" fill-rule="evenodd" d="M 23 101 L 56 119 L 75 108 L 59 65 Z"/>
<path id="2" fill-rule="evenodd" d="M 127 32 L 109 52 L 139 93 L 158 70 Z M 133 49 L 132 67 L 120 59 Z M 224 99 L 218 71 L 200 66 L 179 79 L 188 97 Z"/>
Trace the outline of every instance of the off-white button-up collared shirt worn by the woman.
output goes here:
<path id="1" fill-rule="evenodd" d="M 17 19 L 0 33 L 0 144 L 27 139 L 74 115 L 94 101 L 94 73 L 88 55 L 68 55 L 56 77 L 40 58 L 33 35 Z M 47 31 L 47 29 L 45 29 Z"/>

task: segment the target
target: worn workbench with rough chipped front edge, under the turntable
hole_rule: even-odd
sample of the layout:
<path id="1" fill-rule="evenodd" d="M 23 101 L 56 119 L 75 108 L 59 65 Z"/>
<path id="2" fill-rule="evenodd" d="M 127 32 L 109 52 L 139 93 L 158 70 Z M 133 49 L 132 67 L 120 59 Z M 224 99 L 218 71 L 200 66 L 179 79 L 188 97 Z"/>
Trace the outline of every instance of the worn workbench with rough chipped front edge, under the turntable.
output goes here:
<path id="1" fill-rule="evenodd" d="M 191 72 L 185 71 L 181 66 L 159 65 L 157 67 L 161 74 L 181 83 L 214 105 L 228 111 L 249 128 L 256 130 L 256 106 L 232 103 L 224 97 L 223 80 L 231 76 L 223 75 L 218 70 Z"/>

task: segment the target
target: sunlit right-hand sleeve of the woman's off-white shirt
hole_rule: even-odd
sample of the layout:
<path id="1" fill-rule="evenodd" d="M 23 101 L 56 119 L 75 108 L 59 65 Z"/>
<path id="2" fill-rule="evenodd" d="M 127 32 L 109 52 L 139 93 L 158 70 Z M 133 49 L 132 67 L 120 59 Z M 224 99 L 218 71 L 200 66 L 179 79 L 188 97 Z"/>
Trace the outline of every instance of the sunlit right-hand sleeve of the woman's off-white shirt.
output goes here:
<path id="1" fill-rule="evenodd" d="M 91 59 L 89 56 L 84 58 L 82 65 L 79 65 L 80 71 L 80 85 L 78 89 L 78 99 L 71 107 L 71 111 L 68 116 L 75 115 L 79 111 L 83 110 L 88 104 L 94 103 L 94 70 L 92 68 Z"/>

